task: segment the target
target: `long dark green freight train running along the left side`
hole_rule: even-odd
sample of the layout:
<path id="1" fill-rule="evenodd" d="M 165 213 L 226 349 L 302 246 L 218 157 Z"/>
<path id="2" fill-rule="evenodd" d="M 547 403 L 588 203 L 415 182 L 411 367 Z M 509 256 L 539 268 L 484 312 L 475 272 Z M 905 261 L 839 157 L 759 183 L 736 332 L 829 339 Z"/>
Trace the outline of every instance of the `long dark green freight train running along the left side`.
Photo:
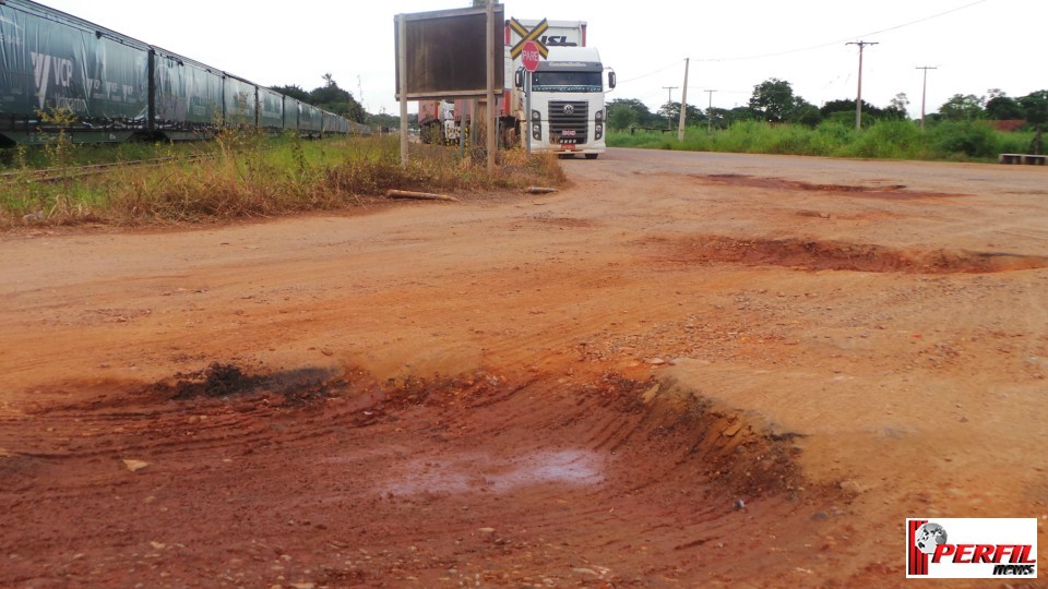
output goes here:
<path id="1" fill-rule="evenodd" d="M 369 128 L 29 0 L 0 0 L 0 146 L 41 143 L 64 109 L 80 143 L 211 139 L 253 127 L 302 136 Z"/>

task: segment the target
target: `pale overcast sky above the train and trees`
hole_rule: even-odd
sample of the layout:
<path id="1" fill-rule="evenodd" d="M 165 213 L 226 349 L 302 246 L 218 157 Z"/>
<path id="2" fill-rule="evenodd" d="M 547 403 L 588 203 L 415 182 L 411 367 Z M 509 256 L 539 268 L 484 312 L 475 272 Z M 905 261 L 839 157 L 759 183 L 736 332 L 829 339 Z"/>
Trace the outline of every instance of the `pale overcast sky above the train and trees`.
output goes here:
<path id="1" fill-rule="evenodd" d="M 158 45 L 262 85 L 309 91 L 331 72 L 371 112 L 398 112 L 393 97 L 393 17 L 472 5 L 469 0 L 44 0 L 44 4 Z M 1046 0 L 749 0 L 624 2 L 511 0 L 507 16 L 584 20 L 588 45 L 618 73 L 608 98 L 639 98 L 653 110 L 681 86 L 688 103 L 747 104 L 753 86 L 785 80 L 821 106 L 854 99 L 858 48 L 862 97 L 885 107 L 898 93 L 920 116 L 954 94 L 1001 88 L 1017 97 L 1048 88 Z M 707 94 L 705 91 L 715 89 Z M 679 101 L 680 89 L 672 91 Z M 414 112 L 415 109 L 413 108 Z"/>

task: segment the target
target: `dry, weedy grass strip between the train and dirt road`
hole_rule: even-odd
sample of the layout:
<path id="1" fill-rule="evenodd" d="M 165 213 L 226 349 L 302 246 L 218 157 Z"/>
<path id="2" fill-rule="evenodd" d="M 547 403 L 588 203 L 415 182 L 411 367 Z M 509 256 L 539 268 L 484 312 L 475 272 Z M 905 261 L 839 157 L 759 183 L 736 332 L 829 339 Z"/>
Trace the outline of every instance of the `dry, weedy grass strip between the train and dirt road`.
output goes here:
<path id="1" fill-rule="evenodd" d="M 133 157 L 121 146 L 108 152 L 109 161 L 199 157 L 76 175 L 76 166 L 98 161 L 92 154 L 104 149 L 62 137 L 32 157 L 14 149 L 12 164 L 0 169 L 9 175 L 0 179 L 0 227 L 201 223 L 353 206 L 388 189 L 461 193 L 564 181 L 555 157 L 527 158 L 523 151 L 501 154 L 489 176 L 484 161 L 437 146 L 413 145 L 413 160 L 402 167 L 396 137 L 305 141 L 236 133 L 206 144 L 138 146 Z M 39 167 L 57 179 L 41 181 Z"/>

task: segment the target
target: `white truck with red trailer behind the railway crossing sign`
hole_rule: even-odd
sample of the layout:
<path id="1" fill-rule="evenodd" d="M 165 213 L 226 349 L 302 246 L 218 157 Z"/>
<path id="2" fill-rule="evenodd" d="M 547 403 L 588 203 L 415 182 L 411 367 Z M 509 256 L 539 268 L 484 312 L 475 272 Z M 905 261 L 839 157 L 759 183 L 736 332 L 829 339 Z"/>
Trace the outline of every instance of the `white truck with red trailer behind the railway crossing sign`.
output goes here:
<path id="1" fill-rule="evenodd" d="M 528 31 L 540 21 L 517 21 Z M 499 101 L 499 124 L 504 146 L 524 146 L 531 134 L 532 149 L 563 156 L 583 154 L 595 159 L 606 148 L 607 109 L 604 104 L 605 76 L 600 53 L 586 47 L 584 21 L 548 21 L 539 36 L 549 56 L 539 62 L 532 79 L 531 110 L 527 109 L 526 76 L 522 59 L 511 57 L 521 40 L 515 29 L 505 26 L 505 81 Z M 607 88 L 615 87 L 615 72 L 608 71 Z M 424 137 L 457 143 L 463 125 L 469 124 L 467 100 L 422 101 L 418 109 Z"/>

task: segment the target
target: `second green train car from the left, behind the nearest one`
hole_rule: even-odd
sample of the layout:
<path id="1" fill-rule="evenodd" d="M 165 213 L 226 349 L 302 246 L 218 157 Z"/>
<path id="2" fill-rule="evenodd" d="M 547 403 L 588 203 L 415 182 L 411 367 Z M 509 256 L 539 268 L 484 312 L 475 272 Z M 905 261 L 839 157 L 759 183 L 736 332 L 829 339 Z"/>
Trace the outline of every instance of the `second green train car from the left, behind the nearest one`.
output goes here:
<path id="1" fill-rule="evenodd" d="M 153 139 L 212 139 L 224 116 L 222 72 L 158 47 L 152 58 Z"/>

